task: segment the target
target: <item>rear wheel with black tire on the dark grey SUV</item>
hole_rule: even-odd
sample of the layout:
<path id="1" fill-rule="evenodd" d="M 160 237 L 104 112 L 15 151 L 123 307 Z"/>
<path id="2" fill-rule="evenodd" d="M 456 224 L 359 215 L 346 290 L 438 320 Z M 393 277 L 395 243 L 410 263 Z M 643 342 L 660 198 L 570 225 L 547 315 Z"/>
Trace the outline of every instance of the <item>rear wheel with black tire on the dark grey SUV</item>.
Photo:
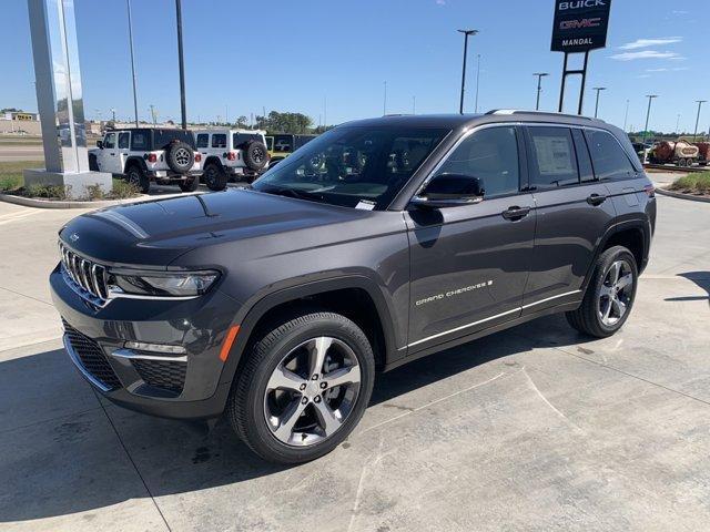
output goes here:
<path id="1" fill-rule="evenodd" d="M 615 274 L 611 269 L 616 269 L 617 264 L 620 264 L 620 269 L 617 280 L 613 282 Z M 575 329 L 589 336 L 606 338 L 613 335 L 631 314 L 638 277 L 638 266 L 631 252 L 623 246 L 613 246 L 605 250 L 597 258 L 581 305 L 577 310 L 566 313 L 567 321 Z M 615 299 L 620 304 L 615 304 Z"/>

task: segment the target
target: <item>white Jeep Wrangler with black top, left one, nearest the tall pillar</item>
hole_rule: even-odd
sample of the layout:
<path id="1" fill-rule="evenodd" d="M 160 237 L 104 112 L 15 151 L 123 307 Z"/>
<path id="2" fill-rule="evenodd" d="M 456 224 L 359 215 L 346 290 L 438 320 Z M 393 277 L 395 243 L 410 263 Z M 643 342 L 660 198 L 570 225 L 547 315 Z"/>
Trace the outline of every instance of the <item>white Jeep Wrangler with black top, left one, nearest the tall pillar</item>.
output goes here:
<path id="1" fill-rule="evenodd" d="M 124 175 L 142 193 L 151 181 L 176 183 L 183 192 L 194 192 L 200 185 L 202 155 L 195 151 L 190 131 L 135 127 L 108 131 L 102 141 L 89 151 L 89 167 Z"/>

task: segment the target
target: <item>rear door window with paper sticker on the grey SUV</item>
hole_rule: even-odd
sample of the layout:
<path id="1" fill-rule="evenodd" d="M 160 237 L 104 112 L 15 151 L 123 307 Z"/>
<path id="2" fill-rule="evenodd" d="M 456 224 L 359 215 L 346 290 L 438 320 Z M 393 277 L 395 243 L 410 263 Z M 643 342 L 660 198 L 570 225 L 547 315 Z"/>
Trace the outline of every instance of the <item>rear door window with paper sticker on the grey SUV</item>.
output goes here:
<path id="1" fill-rule="evenodd" d="M 567 127 L 528 127 L 530 187 L 556 188 L 579 183 L 572 135 Z"/>

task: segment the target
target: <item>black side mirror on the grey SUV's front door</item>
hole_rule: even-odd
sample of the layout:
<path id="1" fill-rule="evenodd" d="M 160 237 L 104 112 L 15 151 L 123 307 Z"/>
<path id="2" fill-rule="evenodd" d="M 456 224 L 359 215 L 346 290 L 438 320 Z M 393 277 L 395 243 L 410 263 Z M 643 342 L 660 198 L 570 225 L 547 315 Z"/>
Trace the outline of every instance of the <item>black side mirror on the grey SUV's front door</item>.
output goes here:
<path id="1" fill-rule="evenodd" d="M 465 174 L 439 174 L 427 183 L 424 191 L 412 198 L 412 204 L 424 208 L 459 207 L 484 200 L 484 182 Z"/>

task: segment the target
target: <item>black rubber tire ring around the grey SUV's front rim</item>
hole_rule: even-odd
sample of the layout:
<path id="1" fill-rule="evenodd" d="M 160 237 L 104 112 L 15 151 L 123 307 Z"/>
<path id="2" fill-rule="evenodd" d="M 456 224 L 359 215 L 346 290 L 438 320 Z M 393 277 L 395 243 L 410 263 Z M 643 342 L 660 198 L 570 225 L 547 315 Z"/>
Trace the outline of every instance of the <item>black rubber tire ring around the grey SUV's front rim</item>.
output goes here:
<path id="1" fill-rule="evenodd" d="M 304 323 L 287 330 L 275 341 L 270 342 L 268 352 L 261 360 L 248 381 L 240 379 L 239 387 L 246 387 L 245 416 L 246 434 L 250 447 L 267 460 L 282 463 L 298 463 L 314 460 L 335 449 L 359 422 L 372 395 L 375 364 L 367 337 L 349 319 L 332 314 L 304 316 Z M 278 441 L 266 426 L 264 419 L 264 393 L 272 372 L 282 358 L 300 344 L 316 336 L 332 336 L 347 344 L 355 352 L 361 369 L 361 389 L 357 401 L 343 426 L 327 440 L 312 447 L 291 447 Z M 254 346 L 255 348 L 258 346 Z"/>

